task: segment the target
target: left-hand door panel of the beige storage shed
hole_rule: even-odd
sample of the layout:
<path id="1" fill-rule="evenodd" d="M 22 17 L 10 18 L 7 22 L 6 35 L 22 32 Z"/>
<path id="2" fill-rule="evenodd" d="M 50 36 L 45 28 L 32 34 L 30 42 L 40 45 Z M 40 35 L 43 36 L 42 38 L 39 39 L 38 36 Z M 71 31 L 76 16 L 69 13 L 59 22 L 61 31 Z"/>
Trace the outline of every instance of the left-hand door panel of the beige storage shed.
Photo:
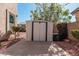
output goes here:
<path id="1" fill-rule="evenodd" d="M 39 39 L 39 30 L 40 30 L 40 26 L 38 22 L 34 23 L 34 32 L 33 32 L 33 40 L 34 41 L 40 41 Z"/>

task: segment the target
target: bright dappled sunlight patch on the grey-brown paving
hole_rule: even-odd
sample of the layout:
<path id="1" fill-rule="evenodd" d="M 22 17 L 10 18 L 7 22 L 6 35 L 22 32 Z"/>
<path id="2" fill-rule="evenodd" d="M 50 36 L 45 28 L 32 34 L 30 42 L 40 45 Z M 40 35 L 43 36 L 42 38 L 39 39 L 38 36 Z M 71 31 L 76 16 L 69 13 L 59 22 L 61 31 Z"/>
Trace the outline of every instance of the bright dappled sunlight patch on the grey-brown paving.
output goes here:
<path id="1" fill-rule="evenodd" d="M 69 56 L 70 54 L 60 48 L 57 44 L 52 43 L 48 49 L 51 55 Z"/>

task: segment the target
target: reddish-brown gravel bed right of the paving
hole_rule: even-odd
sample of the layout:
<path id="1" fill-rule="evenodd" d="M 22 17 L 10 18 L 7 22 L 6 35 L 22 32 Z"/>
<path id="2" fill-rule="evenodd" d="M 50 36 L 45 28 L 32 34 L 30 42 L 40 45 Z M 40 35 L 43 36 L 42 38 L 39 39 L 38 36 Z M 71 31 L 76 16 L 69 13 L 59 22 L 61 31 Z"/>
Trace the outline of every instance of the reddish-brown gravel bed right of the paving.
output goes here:
<path id="1" fill-rule="evenodd" d="M 76 41 L 55 41 L 61 48 L 71 56 L 79 56 L 79 42 Z"/>

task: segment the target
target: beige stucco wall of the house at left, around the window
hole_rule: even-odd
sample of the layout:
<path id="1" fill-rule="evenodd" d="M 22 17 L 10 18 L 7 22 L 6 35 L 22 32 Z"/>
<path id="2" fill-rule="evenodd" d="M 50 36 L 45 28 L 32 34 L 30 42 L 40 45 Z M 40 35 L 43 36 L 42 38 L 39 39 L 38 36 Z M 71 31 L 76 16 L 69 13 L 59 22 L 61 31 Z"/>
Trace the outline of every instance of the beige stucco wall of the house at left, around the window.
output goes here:
<path id="1" fill-rule="evenodd" d="M 7 9 L 7 30 L 10 30 L 9 26 L 9 13 L 17 15 L 17 4 L 15 3 L 0 3 L 0 31 L 6 32 L 6 9 Z M 16 17 L 15 17 L 16 22 Z"/>

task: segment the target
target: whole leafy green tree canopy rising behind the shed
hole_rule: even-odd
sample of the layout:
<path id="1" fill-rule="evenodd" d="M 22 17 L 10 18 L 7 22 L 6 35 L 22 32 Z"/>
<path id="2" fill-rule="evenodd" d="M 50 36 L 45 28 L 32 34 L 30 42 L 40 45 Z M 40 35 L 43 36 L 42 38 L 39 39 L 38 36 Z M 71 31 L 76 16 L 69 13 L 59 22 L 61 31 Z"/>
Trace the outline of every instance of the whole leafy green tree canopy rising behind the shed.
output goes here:
<path id="1" fill-rule="evenodd" d="M 59 3 L 43 3 L 43 4 L 35 4 L 36 10 L 32 11 L 33 20 L 46 20 L 57 22 L 69 22 L 71 16 L 69 14 L 69 10 L 65 9 Z"/>

